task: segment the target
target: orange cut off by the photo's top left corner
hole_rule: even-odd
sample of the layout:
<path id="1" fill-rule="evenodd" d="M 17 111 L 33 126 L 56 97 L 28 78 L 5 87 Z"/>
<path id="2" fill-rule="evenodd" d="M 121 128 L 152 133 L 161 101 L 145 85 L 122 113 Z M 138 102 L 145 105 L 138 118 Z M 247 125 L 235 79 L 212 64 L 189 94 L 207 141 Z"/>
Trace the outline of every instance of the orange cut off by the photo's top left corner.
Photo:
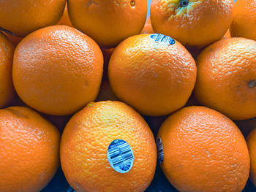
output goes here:
<path id="1" fill-rule="evenodd" d="M 51 26 L 61 18 L 65 0 L 8 0 L 0 1 L 0 27 L 18 37 Z"/>

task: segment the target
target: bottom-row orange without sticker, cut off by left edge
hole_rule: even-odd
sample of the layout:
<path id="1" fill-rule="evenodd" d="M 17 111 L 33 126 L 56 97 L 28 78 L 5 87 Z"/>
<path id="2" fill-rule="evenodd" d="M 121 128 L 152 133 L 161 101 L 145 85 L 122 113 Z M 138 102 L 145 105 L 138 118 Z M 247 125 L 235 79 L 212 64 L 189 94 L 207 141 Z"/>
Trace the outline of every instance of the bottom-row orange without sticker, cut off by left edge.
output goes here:
<path id="1" fill-rule="evenodd" d="M 0 191 L 41 191 L 59 166 L 59 141 L 57 128 L 34 110 L 0 110 Z"/>

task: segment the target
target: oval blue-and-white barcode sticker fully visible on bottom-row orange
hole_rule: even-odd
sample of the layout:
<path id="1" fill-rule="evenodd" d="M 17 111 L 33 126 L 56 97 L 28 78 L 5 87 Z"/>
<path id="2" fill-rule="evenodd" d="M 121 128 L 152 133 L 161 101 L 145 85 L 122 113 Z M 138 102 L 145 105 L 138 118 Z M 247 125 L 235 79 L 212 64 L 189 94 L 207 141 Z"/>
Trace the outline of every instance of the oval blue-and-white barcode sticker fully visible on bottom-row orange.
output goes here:
<path id="1" fill-rule="evenodd" d="M 108 161 L 116 172 L 129 172 L 134 161 L 129 143 L 121 139 L 113 140 L 108 147 Z"/>

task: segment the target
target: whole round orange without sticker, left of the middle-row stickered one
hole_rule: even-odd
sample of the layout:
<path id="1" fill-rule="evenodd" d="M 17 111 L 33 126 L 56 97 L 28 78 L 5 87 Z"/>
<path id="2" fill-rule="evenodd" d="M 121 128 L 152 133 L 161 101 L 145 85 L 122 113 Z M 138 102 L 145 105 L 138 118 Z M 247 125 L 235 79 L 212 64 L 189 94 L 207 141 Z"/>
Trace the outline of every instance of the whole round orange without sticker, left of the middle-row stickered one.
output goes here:
<path id="1" fill-rule="evenodd" d="M 30 107 L 69 115 L 96 99 L 102 68 L 102 52 L 90 37 L 69 26 L 49 26 L 20 42 L 12 78 Z"/>

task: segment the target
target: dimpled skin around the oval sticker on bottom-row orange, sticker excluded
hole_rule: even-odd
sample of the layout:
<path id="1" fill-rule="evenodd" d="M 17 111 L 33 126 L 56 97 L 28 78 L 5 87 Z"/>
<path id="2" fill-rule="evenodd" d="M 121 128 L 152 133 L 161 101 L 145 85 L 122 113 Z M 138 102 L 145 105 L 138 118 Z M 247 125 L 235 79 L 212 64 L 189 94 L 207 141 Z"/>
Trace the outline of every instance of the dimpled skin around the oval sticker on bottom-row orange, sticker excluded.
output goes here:
<path id="1" fill-rule="evenodd" d="M 108 162 L 115 139 L 129 143 L 134 163 L 116 172 Z M 67 123 L 61 137 L 61 167 L 75 191 L 145 191 L 154 177 L 157 147 L 145 120 L 127 104 L 88 104 Z"/>

